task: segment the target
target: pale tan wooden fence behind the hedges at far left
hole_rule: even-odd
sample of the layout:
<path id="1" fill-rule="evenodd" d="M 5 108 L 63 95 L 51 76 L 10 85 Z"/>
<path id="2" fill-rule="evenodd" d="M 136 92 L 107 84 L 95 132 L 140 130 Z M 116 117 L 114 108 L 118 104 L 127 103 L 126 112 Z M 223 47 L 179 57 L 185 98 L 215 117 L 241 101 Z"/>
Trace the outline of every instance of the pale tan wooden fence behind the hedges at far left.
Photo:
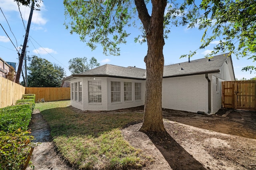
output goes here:
<path id="1" fill-rule="evenodd" d="M 14 105 L 25 93 L 25 87 L 2 76 L 0 76 L 0 89 L 0 108 Z"/>

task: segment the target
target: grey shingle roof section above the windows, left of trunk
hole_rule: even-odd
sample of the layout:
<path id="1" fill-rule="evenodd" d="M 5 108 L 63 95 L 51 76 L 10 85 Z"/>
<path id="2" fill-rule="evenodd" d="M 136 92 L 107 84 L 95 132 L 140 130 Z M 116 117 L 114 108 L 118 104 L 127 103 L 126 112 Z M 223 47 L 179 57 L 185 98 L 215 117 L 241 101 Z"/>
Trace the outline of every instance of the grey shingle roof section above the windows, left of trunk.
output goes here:
<path id="1" fill-rule="evenodd" d="M 136 67 L 122 67 L 111 64 L 96 67 L 92 70 L 77 74 L 77 76 L 114 76 L 126 78 L 146 79 L 146 70 Z"/>

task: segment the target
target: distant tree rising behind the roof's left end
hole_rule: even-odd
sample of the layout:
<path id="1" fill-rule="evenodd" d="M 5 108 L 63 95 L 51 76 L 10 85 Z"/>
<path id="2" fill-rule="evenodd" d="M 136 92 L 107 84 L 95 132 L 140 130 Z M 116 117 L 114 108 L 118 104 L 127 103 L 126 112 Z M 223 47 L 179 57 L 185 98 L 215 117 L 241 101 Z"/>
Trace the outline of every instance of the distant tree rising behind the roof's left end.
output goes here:
<path id="1" fill-rule="evenodd" d="M 98 63 L 94 57 L 90 59 L 90 63 L 87 62 L 86 57 L 76 57 L 74 59 L 70 59 L 70 61 L 68 61 L 68 64 L 68 69 L 72 74 L 79 74 L 87 70 L 90 70 L 96 66 L 100 66 L 100 63 Z"/>

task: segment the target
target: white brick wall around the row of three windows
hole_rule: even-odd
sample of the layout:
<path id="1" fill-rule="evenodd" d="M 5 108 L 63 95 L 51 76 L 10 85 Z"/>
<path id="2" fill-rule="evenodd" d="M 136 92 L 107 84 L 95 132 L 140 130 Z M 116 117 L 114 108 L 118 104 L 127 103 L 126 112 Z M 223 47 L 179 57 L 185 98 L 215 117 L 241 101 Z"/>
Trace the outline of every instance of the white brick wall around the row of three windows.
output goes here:
<path id="1" fill-rule="evenodd" d="M 111 81 L 121 82 L 121 102 L 111 102 Z M 132 82 L 132 101 L 124 102 L 124 82 Z M 135 100 L 134 96 L 134 83 L 141 83 L 141 100 Z M 124 79 L 124 78 L 108 78 L 107 80 L 107 89 L 108 89 L 108 100 L 107 100 L 107 108 L 108 110 L 116 110 L 116 109 L 124 109 L 130 107 L 137 107 L 144 105 L 144 98 L 145 98 L 145 80 L 133 80 L 133 79 Z"/>

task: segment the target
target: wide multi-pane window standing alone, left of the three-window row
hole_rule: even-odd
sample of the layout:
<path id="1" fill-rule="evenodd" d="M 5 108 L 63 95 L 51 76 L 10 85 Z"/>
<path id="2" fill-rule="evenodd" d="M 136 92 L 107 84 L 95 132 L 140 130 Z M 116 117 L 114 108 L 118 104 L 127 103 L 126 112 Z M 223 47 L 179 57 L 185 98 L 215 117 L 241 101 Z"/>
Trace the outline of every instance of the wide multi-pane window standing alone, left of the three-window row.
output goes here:
<path id="1" fill-rule="evenodd" d="M 89 103 L 101 103 L 101 81 L 88 82 Z"/>

